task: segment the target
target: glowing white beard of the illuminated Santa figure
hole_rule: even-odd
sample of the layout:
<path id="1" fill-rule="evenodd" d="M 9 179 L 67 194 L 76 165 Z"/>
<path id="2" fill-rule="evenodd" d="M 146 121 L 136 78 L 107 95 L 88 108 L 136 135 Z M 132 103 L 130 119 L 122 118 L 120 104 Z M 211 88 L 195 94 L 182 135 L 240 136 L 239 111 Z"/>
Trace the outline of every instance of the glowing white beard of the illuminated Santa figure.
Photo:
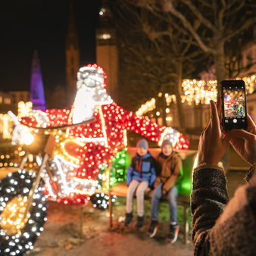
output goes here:
<path id="1" fill-rule="evenodd" d="M 86 88 L 81 88 L 76 92 L 73 104 L 73 123 L 82 123 L 92 119 L 97 101 L 93 100 L 95 92 L 89 92 Z"/>

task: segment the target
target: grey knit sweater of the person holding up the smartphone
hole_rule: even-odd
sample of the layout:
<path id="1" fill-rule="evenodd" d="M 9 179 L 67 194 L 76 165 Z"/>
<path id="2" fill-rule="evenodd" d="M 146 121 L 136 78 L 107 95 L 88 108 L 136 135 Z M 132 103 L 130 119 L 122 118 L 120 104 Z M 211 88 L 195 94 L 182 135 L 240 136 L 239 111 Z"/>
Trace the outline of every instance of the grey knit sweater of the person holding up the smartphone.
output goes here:
<path id="1" fill-rule="evenodd" d="M 225 171 L 201 164 L 193 173 L 192 242 L 195 255 L 256 255 L 256 175 L 229 201 Z M 228 202 L 229 201 L 229 202 Z"/>

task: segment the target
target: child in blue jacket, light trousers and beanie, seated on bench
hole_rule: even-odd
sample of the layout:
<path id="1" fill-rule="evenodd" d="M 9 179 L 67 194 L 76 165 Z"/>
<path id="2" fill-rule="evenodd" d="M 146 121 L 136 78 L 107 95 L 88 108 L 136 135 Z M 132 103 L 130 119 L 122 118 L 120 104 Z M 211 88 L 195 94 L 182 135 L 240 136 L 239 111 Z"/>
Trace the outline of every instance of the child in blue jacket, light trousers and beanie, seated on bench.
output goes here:
<path id="1" fill-rule="evenodd" d="M 136 229 L 142 229 L 144 220 L 144 193 L 153 186 L 156 179 L 155 158 L 148 152 L 148 142 L 140 139 L 137 142 L 137 153 L 127 170 L 126 183 L 129 186 L 126 196 L 126 218 L 124 225 L 129 226 L 133 219 L 133 195 L 137 198 Z"/>

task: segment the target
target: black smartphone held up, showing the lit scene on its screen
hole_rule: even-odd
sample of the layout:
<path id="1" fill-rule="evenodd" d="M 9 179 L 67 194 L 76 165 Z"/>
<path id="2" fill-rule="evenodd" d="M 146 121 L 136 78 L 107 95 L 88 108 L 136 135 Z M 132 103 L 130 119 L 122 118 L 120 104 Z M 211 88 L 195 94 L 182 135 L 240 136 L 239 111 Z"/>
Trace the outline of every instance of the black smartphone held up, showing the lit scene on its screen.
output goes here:
<path id="1" fill-rule="evenodd" d="M 247 128 L 246 92 L 243 80 L 220 82 L 224 130 Z"/>

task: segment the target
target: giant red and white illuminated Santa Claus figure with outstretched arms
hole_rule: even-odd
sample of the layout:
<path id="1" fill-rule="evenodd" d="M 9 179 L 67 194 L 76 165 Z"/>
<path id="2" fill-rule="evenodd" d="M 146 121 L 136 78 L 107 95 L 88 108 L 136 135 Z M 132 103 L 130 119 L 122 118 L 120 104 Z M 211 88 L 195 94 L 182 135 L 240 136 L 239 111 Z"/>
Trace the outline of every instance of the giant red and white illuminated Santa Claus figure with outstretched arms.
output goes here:
<path id="1" fill-rule="evenodd" d="M 178 131 L 158 126 L 148 118 L 136 116 L 118 106 L 107 94 L 105 80 L 104 70 L 96 64 L 81 67 L 71 109 L 33 111 L 20 120 L 26 126 L 45 127 L 45 130 L 52 126 L 81 123 L 56 136 L 54 161 L 56 175 L 62 184 L 58 195 L 61 201 L 86 203 L 86 198 L 97 186 L 99 168 L 109 164 L 117 151 L 126 147 L 126 130 L 139 133 L 158 145 L 164 139 L 170 139 L 173 148 L 189 148 L 188 139 Z M 47 189 L 53 197 L 51 188 Z"/>

